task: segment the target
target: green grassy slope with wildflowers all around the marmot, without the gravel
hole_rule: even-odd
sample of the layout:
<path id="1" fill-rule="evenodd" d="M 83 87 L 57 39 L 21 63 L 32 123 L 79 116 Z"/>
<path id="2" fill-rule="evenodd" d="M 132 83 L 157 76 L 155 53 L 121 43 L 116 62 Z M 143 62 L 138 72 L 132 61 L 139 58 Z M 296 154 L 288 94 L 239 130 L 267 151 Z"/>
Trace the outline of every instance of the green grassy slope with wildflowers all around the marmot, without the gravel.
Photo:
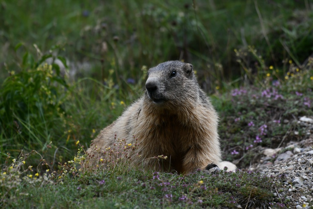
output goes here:
<path id="1" fill-rule="evenodd" d="M 260 147 L 309 137 L 294 121 L 312 115 L 311 8 L 0 1 L 0 206 L 288 206 L 272 195 L 278 183 L 245 170 Z M 142 94 L 147 69 L 172 59 L 193 64 L 220 115 L 224 159 L 242 171 L 182 176 L 105 159 L 83 169 L 83 150 Z"/>

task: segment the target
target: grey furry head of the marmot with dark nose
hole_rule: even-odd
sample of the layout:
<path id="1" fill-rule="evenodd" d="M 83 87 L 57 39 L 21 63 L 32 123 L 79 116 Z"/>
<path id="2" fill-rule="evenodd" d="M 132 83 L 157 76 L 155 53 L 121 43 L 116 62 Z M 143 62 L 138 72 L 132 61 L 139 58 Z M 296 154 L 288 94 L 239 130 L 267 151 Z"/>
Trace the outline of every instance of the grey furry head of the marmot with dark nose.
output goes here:
<path id="1" fill-rule="evenodd" d="M 198 88 L 191 64 L 168 61 L 148 71 L 146 93 L 150 102 L 156 106 L 172 107 L 194 102 L 197 100 Z"/>

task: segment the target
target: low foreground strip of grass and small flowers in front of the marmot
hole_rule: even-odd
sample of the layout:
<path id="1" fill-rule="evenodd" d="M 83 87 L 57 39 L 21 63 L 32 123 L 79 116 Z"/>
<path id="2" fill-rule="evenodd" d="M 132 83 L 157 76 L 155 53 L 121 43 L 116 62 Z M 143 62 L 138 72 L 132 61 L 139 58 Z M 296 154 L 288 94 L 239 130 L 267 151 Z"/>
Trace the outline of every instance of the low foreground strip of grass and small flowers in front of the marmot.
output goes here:
<path id="1" fill-rule="evenodd" d="M 26 169 L 23 160 L 28 159 L 22 157 L 14 168 L 0 174 L 0 206 L 236 208 L 240 204 L 266 207 L 273 203 L 273 192 L 280 185 L 253 172 L 221 170 L 212 174 L 197 171 L 177 175 L 128 168 L 127 160 L 99 162 L 99 168 L 90 172 L 84 166 L 77 170 L 77 165 L 82 165 L 85 159 L 80 156 L 78 153 L 74 161 L 64 163 L 61 173 Z"/>

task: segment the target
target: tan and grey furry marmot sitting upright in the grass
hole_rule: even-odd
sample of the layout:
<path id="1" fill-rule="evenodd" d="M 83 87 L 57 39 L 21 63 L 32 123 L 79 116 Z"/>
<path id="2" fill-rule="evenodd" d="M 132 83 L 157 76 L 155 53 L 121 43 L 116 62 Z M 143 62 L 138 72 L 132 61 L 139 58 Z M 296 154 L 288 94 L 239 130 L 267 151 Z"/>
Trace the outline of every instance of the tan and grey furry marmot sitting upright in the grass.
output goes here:
<path id="1" fill-rule="evenodd" d="M 145 93 L 100 132 L 87 153 L 112 147 L 116 135 L 126 143 L 135 136 L 141 158 L 131 158 L 134 166 L 160 169 L 153 157 L 164 155 L 162 171 L 209 169 L 221 161 L 218 120 L 192 65 L 163 62 L 149 69 Z"/>

